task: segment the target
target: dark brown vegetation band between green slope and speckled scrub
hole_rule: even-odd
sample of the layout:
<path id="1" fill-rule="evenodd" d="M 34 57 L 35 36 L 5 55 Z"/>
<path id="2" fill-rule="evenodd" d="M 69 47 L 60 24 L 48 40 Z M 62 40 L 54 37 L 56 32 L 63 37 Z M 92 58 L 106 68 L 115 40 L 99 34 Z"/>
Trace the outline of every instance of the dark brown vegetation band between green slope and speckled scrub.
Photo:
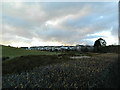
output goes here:
<path id="1" fill-rule="evenodd" d="M 20 73 L 35 67 L 68 61 L 68 57 L 57 55 L 28 55 L 6 60 L 2 64 L 3 74 Z"/>

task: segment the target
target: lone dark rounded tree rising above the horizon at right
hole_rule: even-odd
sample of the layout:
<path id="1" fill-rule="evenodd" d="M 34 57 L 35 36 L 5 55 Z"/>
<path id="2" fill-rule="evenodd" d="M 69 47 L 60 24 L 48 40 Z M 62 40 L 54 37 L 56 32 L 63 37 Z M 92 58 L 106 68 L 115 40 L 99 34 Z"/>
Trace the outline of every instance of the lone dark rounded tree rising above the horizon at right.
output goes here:
<path id="1" fill-rule="evenodd" d="M 106 41 L 102 38 L 99 38 L 94 43 L 94 50 L 97 52 L 101 51 L 102 47 L 105 47 L 105 46 L 106 46 Z"/>

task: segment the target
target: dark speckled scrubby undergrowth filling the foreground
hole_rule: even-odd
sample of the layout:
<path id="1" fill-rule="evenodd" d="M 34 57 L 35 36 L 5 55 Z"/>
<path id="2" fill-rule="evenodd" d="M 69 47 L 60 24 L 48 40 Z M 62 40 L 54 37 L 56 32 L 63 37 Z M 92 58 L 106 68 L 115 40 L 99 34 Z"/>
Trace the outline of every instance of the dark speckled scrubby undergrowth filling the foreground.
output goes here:
<path id="1" fill-rule="evenodd" d="M 49 61 L 52 57 L 46 58 Z M 63 62 L 58 63 L 62 59 Z M 54 56 L 52 60 L 57 60 L 57 63 L 45 64 L 29 72 L 4 75 L 3 88 L 118 88 L 117 54 L 67 59 L 68 57 Z"/>

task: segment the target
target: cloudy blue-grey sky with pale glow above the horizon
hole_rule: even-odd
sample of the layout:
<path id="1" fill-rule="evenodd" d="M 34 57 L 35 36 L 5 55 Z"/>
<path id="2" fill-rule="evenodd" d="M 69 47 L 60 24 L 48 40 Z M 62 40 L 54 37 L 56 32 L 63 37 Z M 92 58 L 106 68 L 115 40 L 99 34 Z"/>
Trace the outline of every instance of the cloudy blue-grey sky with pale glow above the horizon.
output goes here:
<path id="1" fill-rule="evenodd" d="M 1 16 L 4 45 L 118 44 L 117 2 L 4 2 Z"/>

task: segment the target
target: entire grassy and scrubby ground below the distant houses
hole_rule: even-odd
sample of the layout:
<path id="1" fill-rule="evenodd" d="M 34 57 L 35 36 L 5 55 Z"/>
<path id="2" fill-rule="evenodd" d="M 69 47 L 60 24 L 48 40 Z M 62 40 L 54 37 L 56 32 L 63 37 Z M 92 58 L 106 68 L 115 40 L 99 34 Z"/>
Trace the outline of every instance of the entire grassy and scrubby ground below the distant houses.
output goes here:
<path id="1" fill-rule="evenodd" d="M 3 46 L 3 88 L 118 88 L 118 54 L 28 51 Z M 71 59 L 70 57 L 90 58 Z"/>

